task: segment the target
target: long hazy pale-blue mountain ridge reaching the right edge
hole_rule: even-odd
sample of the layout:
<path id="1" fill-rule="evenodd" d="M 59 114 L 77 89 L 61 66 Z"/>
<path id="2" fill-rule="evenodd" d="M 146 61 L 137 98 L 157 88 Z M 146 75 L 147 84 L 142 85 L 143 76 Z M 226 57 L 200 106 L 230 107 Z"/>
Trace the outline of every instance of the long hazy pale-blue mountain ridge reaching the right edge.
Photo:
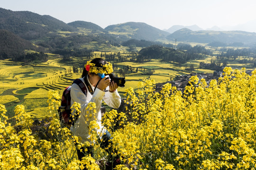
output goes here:
<path id="1" fill-rule="evenodd" d="M 178 42 L 256 42 L 256 33 L 245 31 L 192 31 L 187 28 L 180 29 L 173 34 L 167 36 L 169 40 L 177 40 Z"/>

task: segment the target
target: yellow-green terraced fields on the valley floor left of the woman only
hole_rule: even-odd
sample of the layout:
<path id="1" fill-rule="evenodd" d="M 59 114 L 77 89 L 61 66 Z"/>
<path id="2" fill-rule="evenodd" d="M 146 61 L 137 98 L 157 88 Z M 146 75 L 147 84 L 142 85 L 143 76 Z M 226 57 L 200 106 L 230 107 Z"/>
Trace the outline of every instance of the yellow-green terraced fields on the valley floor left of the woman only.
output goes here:
<path id="1" fill-rule="evenodd" d="M 52 59 L 40 65 L 0 61 L 0 103 L 6 105 L 9 116 L 14 115 L 12 110 L 17 104 L 25 105 L 27 112 L 34 117 L 45 116 L 48 90 L 58 90 L 61 94 L 79 76 L 68 73 L 70 66 L 62 66 L 58 60 Z"/>

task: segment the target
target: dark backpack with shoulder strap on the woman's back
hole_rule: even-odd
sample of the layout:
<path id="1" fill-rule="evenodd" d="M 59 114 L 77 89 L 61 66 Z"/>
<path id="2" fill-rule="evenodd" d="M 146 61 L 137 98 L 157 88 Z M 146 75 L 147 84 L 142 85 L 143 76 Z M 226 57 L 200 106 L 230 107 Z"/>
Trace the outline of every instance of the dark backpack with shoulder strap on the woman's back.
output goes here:
<path id="1" fill-rule="evenodd" d="M 75 79 L 73 84 L 77 84 L 81 90 L 82 93 L 84 93 L 85 95 L 87 94 L 87 89 L 84 85 L 84 83 L 82 82 L 81 79 Z M 71 90 L 71 85 L 66 87 L 63 94 L 62 94 L 62 98 L 61 98 L 61 106 L 58 109 L 58 113 L 59 113 L 59 119 L 60 121 L 64 124 L 64 125 L 73 125 L 75 121 L 73 121 L 72 119 L 72 114 L 71 114 L 71 96 L 70 96 L 70 90 Z M 75 120 L 78 118 L 78 116 L 75 117 Z"/>

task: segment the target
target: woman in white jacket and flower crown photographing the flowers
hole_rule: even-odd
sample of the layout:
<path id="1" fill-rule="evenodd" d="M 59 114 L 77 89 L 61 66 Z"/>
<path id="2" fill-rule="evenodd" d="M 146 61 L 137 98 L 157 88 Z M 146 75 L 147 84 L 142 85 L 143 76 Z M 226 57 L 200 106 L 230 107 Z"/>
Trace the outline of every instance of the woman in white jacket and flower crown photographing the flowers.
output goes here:
<path id="1" fill-rule="evenodd" d="M 86 95 L 82 92 L 81 88 L 77 84 L 73 84 L 71 86 L 71 105 L 74 102 L 78 102 L 81 104 L 81 113 L 80 117 L 75 121 L 75 124 L 71 126 L 71 131 L 75 136 L 80 136 L 82 138 L 82 143 L 90 142 L 89 139 L 89 125 L 90 120 L 88 119 L 89 115 L 86 115 L 86 107 L 89 102 L 94 102 L 96 104 L 96 114 L 95 120 L 99 125 L 99 129 L 97 129 L 97 133 L 100 134 L 99 140 L 103 139 L 100 143 L 101 147 L 105 149 L 109 144 L 111 144 L 111 136 L 110 133 L 106 130 L 105 127 L 101 125 L 101 103 L 102 100 L 106 104 L 108 104 L 112 108 L 119 108 L 121 104 L 121 97 L 117 91 L 118 85 L 113 81 L 110 81 L 108 75 L 113 72 L 112 65 L 108 63 L 106 60 L 101 58 L 96 58 L 91 61 L 88 61 L 82 72 L 82 82 L 86 86 L 87 93 Z M 87 81 L 87 82 L 86 82 Z M 93 147 L 87 147 L 87 151 L 84 152 L 85 148 L 82 148 L 82 152 L 80 149 L 77 150 L 79 160 L 82 160 L 87 154 L 91 154 L 93 157 Z M 112 151 L 112 148 L 105 149 L 108 153 Z M 111 154 L 110 154 L 111 157 Z M 120 163 L 119 158 L 110 158 L 112 168 L 114 168 L 117 164 Z M 109 163 L 110 164 L 110 163 Z"/>

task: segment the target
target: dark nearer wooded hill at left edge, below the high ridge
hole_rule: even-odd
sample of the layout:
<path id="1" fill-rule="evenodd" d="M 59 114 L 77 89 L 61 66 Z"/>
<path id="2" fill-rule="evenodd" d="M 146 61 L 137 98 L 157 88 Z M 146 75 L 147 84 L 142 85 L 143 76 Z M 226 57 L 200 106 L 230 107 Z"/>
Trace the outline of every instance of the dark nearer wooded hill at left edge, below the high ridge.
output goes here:
<path id="1" fill-rule="evenodd" d="M 0 59 L 9 59 L 25 54 L 25 50 L 35 50 L 31 42 L 6 30 L 0 30 Z"/>

